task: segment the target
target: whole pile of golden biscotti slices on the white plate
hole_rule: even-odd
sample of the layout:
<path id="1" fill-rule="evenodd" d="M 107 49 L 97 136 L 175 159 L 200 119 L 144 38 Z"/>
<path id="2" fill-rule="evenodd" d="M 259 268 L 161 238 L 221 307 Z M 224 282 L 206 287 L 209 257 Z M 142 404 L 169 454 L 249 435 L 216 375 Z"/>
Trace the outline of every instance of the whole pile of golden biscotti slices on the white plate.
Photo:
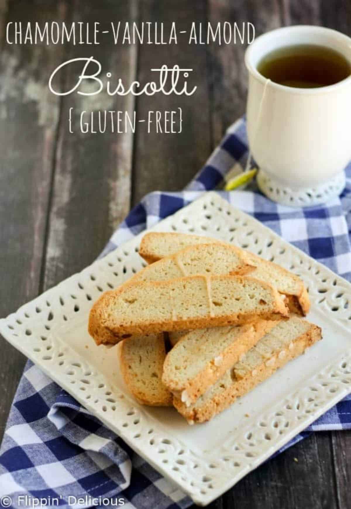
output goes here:
<path id="1" fill-rule="evenodd" d="M 89 332 L 122 342 L 122 374 L 142 404 L 208 420 L 321 338 L 303 318 L 303 281 L 279 265 L 176 233 L 145 235 L 139 253 L 150 265 L 100 297 Z"/>

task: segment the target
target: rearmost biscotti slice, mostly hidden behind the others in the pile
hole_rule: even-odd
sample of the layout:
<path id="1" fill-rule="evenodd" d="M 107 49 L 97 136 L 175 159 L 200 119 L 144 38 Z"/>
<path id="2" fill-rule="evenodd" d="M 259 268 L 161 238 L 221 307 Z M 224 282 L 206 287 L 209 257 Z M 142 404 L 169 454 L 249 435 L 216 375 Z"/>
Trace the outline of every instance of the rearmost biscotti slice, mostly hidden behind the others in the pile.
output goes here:
<path id="1" fill-rule="evenodd" d="M 216 239 L 212 237 L 202 237 L 200 235 L 150 232 L 142 237 L 139 246 L 139 254 L 146 262 L 154 263 L 186 247 L 217 242 L 220 241 L 216 241 Z"/>

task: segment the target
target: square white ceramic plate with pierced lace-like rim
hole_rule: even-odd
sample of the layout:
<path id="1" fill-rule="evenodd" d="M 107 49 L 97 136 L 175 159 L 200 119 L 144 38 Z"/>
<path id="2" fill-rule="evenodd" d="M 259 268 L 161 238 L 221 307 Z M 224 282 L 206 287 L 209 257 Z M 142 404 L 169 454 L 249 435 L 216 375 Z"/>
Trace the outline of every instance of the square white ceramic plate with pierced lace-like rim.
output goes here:
<path id="1" fill-rule="evenodd" d="M 174 409 L 139 405 L 121 380 L 119 346 L 97 347 L 86 328 L 101 292 L 142 267 L 140 236 L 0 320 L 0 333 L 206 505 L 350 392 L 351 285 L 214 192 L 154 230 L 217 237 L 300 274 L 312 302 L 309 320 L 323 328 L 324 340 L 206 424 L 189 426 Z"/>

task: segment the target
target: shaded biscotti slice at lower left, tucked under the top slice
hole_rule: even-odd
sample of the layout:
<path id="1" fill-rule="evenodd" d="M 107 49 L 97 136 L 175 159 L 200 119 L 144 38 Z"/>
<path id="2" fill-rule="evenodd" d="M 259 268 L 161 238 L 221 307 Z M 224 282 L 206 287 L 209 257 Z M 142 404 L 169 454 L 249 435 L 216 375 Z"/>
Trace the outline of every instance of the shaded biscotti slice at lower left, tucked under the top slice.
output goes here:
<path id="1" fill-rule="evenodd" d="M 128 389 L 142 405 L 172 405 L 171 393 L 161 381 L 165 356 L 163 334 L 131 337 L 122 343 L 122 375 Z"/>

